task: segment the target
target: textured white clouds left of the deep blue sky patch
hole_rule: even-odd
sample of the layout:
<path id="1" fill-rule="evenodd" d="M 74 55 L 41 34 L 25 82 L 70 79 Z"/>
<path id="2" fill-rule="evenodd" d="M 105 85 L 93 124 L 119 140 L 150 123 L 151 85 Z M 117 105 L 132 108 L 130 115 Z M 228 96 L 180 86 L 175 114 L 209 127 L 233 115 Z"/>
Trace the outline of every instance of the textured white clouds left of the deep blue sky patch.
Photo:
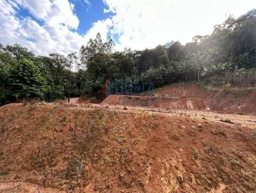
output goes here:
<path id="1" fill-rule="evenodd" d="M 40 26 L 30 17 L 19 19 L 20 6 L 44 24 Z M 0 0 L 0 42 L 4 45 L 19 43 L 36 54 L 47 55 L 77 51 L 98 32 L 106 40 L 110 19 L 95 22 L 85 35 L 79 35 L 74 31 L 79 19 L 73 10 L 74 4 L 68 0 Z"/>

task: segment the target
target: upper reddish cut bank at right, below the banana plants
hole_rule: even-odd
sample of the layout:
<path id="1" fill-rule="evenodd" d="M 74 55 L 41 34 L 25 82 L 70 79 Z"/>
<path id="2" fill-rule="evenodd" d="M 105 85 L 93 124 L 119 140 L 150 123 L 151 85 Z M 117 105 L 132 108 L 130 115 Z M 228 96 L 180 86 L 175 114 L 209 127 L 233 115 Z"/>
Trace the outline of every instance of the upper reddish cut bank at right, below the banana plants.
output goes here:
<path id="1" fill-rule="evenodd" d="M 212 111 L 256 114 L 256 89 L 209 89 L 195 84 L 176 84 L 154 90 L 156 96 L 199 98 Z"/>

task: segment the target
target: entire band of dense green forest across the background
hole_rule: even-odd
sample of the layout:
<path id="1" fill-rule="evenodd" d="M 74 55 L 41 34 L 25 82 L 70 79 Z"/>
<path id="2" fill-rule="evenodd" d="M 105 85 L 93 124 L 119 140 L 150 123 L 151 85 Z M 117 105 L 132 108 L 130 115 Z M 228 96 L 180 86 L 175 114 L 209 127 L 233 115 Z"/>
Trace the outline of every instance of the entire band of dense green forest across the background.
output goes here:
<path id="1" fill-rule="evenodd" d="M 67 56 L 36 56 L 20 45 L 0 44 L 0 104 L 54 101 L 69 94 L 100 98 L 106 79 L 129 86 L 153 82 L 155 88 L 188 81 L 255 87 L 256 10 L 238 19 L 230 15 L 211 35 L 195 36 L 186 45 L 114 50 L 115 42 L 110 37 L 102 42 L 99 33 Z"/>

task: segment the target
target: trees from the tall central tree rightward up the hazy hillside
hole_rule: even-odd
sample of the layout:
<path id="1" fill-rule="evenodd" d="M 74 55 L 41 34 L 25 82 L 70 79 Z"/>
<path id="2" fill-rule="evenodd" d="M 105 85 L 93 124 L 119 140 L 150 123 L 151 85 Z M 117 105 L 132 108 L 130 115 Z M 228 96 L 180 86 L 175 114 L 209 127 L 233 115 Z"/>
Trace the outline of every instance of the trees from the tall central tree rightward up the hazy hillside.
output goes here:
<path id="1" fill-rule="evenodd" d="M 256 10 L 238 19 L 230 16 L 223 24 L 214 26 L 211 35 L 195 36 L 186 45 L 168 42 L 155 49 L 124 52 L 111 52 L 112 47 L 111 40 L 104 45 L 97 35 L 81 48 L 80 56 L 87 56 L 82 60 L 87 79 L 84 95 L 100 96 L 108 78 L 115 82 L 153 82 L 155 88 L 201 80 L 236 86 L 248 82 L 248 86 L 256 86 L 252 70 L 256 68 Z M 246 81 L 239 82 L 241 77 Z"/>

